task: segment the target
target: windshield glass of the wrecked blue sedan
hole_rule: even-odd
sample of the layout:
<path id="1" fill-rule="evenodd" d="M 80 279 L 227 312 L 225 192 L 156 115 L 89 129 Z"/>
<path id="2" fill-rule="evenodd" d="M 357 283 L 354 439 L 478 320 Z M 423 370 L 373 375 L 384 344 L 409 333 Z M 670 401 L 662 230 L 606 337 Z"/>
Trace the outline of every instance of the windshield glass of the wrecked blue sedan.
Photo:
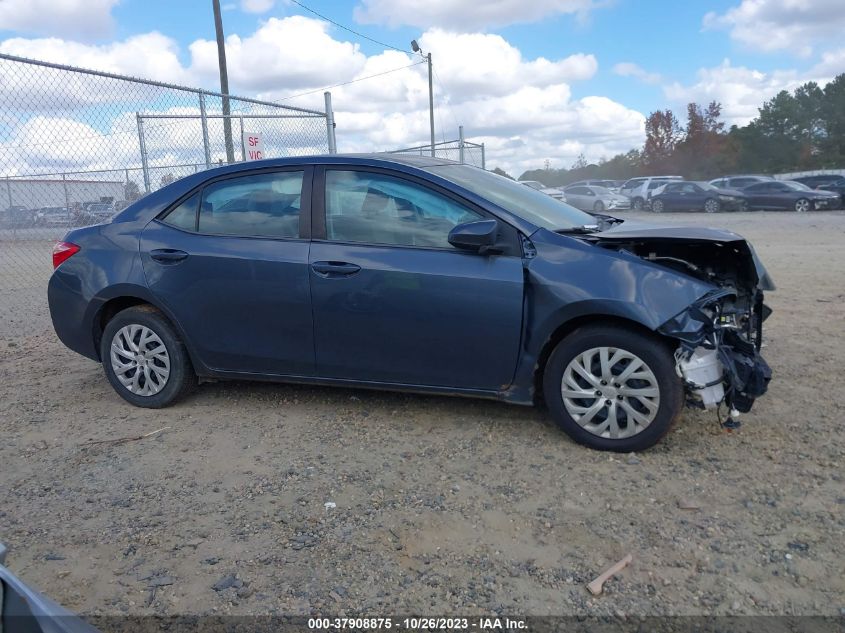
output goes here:
<path id="1" fill-rule="evenodd" d="M 435 165 L 426 167 L 425 171 L 469 189 L 506 211 L 550 231 L 595 224 L 593 216 L 575 207 L 478 167 Z"/>

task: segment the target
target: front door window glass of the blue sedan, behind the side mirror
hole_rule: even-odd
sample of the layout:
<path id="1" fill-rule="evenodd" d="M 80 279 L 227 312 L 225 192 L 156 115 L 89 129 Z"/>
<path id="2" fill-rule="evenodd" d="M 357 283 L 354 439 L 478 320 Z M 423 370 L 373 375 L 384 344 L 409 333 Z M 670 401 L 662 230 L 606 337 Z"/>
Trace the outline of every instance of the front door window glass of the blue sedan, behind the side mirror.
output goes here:
<path id="1" fill-rule="evenodd" d="M 326 238 L 427 248 L 452 248 L 449 231 L 484 219 L 427 187 L 363 171 L 326 172 Z"/>

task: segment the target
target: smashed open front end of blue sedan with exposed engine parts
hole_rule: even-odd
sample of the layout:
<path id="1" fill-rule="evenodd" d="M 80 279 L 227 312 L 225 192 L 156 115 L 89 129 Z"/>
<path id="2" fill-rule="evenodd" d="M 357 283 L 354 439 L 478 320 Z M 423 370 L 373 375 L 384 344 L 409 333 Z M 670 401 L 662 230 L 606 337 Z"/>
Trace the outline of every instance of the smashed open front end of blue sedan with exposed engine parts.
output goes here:
<path id="1" fill-rule="evenodd" d="M 699 240 L 636 233 L 623 229 L 595 237 L 599 246 L 713 284 L 711 292 L 658 331 L 679 341 L 675 368 L 684 381 L 687 404 L 711 409 L 724 403 L 730 411 L 725 426 L 739 426 L 739 414 L 751 410 L 772 376 L 760 348 L 763 321 L 771 314 L 763 304 L 763 291 L 774 290 L 774 284 L 753 248 L 739 235 L 703 229 Z M 721 239 L 715 239 L 717 235 Z"/>

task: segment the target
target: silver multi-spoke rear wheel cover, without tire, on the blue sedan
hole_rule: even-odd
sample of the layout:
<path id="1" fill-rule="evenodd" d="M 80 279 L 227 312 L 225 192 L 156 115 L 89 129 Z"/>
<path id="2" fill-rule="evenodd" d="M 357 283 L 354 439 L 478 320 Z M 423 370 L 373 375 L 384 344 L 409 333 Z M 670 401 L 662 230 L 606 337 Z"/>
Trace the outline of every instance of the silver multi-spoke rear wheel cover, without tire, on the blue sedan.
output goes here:
<path id="1" fill-rule="evenodd" d="M 170 378 L 170 354 L 158 334 L 144 325 L 120 328 L 112 338 L 110 357 L 114 375 L 135 395 L 155 395 Z"/>

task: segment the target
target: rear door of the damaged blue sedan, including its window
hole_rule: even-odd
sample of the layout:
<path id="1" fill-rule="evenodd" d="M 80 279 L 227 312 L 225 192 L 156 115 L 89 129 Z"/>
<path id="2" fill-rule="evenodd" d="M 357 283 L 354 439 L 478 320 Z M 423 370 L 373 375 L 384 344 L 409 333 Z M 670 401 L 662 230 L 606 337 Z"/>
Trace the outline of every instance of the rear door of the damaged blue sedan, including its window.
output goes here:
<path id="1" fill-rule="evenodd" d="M 147 283 L 210 368 L 313 374 L 311 175 L 298 167 L 217 179 L 144 229 Z"/>

